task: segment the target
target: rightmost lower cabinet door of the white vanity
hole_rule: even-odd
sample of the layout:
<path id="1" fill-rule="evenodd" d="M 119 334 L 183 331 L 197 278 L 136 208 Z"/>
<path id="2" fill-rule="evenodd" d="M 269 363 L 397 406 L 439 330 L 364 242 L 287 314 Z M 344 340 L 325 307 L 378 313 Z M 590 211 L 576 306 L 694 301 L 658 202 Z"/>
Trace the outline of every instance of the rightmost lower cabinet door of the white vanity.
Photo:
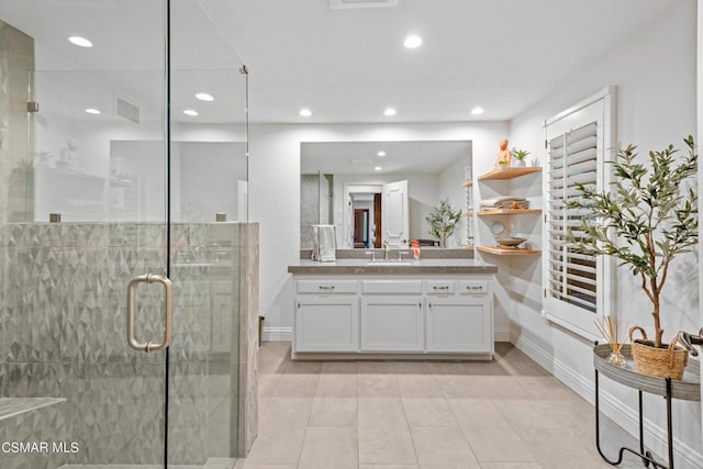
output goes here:
<path id="1" fill-rule="evenodd" d="M 427 351 L 493 353 L 489 297 L 427 300 Z"/>

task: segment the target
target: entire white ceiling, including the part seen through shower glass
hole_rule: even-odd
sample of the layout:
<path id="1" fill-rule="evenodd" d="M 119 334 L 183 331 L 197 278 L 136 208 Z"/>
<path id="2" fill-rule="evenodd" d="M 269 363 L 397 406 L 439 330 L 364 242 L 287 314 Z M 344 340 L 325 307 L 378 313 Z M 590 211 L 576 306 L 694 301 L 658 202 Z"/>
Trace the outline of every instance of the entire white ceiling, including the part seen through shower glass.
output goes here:
<path id="1" fill-rule="evenodd" d="M 241 59 L 249 69 L 252 122 L 509 120 L 682 1 L 400 0 L 371 9 L 331 9 L 327 0 L 174 1 L 172 65 L 189 70 L 174 89 L 174 109 L 191 105 L 191 88 L 209 86 L 227 98 L 203 108 L 199 122 L 237 119 Z M 158 110 L 160 76 L 145 90 L 134 70 L 163 67 L 161 7 L 155 0 L 2 1 L 0 19 L 35 37 L 38 68 L 103 70 L 103 82 L 120 80 L 119 91 L 108 87 L 112 93 Z M 411 33 L 423 38 L 412 51 L 402 45 Z M 74 34 L 96 46 L 68 44 Z M 210 75 L 217 76 L 212 83 Z M 482 115 L 470 114 L 477 105 Z M 312 116 L 298 114 L 303 107 Z M 384 116 L 387 107 L 398 114 Z"/>

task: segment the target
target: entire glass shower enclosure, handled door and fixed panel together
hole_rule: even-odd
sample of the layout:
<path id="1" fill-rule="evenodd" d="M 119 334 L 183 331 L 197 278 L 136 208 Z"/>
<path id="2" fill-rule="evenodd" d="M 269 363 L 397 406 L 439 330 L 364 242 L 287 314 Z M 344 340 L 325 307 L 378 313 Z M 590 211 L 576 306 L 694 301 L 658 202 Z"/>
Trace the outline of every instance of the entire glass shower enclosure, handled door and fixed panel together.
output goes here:
<path id="1" fill-rule="evenodd" d="M 234 465 L 246 76 L 198 1 L 168 7 L 0 5 L 3 469 Z M 127 286 L 147 273 L 174 306 L 170 347 L 148 353 L 161 283 L 134 286 L 144 346 L 127 342 Z"/>

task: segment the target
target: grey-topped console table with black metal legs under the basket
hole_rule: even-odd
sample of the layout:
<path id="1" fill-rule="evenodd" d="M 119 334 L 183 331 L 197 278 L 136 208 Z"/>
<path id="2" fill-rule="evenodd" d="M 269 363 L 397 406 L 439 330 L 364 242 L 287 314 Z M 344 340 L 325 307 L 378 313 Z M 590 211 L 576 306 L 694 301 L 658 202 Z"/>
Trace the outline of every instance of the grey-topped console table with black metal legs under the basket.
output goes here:
<path id="1" fill-rule="evenodd" d="M 595 446 L 601 457 L 611 466 L 618 466 L 623 461 L 625 451 L 632 453 L 641 458 L 645 466 L 651 466 L 659 469 L 673 469 L 673 446 L 671 435 L 671 400 L 680 399 L 685 401 L 701 400 L 701 379 L 698 369 L 687 369 L 681 381 L 674 381 L 671 378 L 656 378 L 641 375 L 635 371 L 632 351 L 629 345 L 624 345 L 622 353 L 627 364 L 624 367 L 617 367 L 607 361 L 612 349 L 607 344 L 599 345 L 595 343 L 593 347 L 593 366 L 595 368 Z M 600 409 L 599 409 L 599 372 L 603 376 L 616 381 L 623 386 L 637 389 L 639 398 L 639 451 L 622 447 L 620 448 L 617 460 L 609 459 L 601 450 L 600 438 Z M 643 426 L 643 392 L 655 395 L 661 395 L 667 401 L 667 445 L 669 466 L 663 466 L 655 460 L 650 451 L 645 450 L 644 426 Z"/>

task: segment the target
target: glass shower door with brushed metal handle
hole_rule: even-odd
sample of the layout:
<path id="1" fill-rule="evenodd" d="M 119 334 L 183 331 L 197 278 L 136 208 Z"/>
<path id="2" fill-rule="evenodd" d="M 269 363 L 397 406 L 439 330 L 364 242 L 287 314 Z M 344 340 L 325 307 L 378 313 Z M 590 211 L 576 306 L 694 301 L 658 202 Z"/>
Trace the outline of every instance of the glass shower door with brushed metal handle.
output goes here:
<path id="1" fill-rule="evenodd" d="M 166 2 L 0 18 L 0 467 L 164 467 Z"/>

